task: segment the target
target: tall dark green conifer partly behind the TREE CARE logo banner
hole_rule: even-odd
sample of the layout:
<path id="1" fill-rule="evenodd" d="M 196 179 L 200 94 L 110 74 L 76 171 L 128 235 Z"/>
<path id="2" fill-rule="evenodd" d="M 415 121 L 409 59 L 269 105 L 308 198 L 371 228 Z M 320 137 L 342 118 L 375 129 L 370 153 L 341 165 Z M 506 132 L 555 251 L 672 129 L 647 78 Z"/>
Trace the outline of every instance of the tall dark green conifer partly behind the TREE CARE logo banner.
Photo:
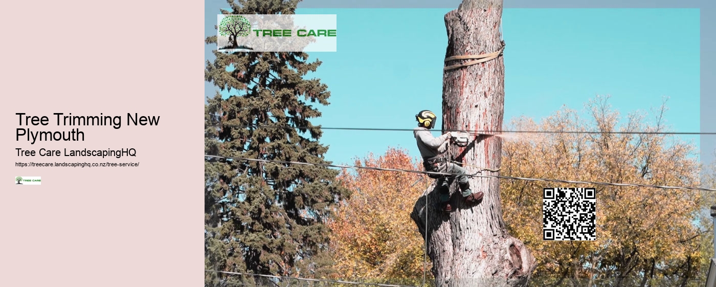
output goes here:
<path id="1" fill-rule="evenodd" d="M 222 13 L 294 14 L 297 3 L 228 0 L 231 11 Z M 318 142 L 321 129 L 309 119 L 321 115 L 313 103 L 329 104 L 330 92 L 320 79 L 304 79 L 321 62 L 309 62 L 303 52 L 214 54 L 205 80 L 230 96 L 217 92 L 205 106 L 205 154 L 221 156 L 205 160 L 205 268 L 315 276 L 327 264 L 321 261 L 328 258 L 325 220 L 348 196 L 334 184 L 339 172 L 236 157 L 329 163 Z M 254 279 L 207 272 L 205 286 Z"/>

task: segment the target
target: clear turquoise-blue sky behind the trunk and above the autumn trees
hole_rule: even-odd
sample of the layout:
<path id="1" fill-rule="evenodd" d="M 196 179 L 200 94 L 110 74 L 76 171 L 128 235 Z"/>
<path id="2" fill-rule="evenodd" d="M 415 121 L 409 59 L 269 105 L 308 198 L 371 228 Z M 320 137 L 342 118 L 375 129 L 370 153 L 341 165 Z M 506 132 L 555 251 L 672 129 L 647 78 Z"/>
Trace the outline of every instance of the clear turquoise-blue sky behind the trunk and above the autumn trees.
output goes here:
<path id="1" fill-rule="evenodd" d="M 207 2 L 207 35 L 216 34 L 218 8 Z M 309 53 L 323 62 L 312 76 L 332 94 L 314 123 L 412 128 L 418 111 L 441 112 L 443 17 L 450 10 L 296 11 L 338 19 L 337 52 Z M 698 132 L 699 27 L 697 9 L 505 9 L 505 123 L 521 115 L 538 121 L 565 104 L 582 110 L 596 94 L 609 94 L 622 115 L 649 112 L 669 97 L 667 125 Z M 211 84 L 206 88 L 205 95 L 214 94 Z M 698 147 L 697 136 L 682 139 Z M 409 131 L 325 130 L 321 142 L 330 146 L 326 159 L 336 163 L 390 146 L 419 155 Z"/>

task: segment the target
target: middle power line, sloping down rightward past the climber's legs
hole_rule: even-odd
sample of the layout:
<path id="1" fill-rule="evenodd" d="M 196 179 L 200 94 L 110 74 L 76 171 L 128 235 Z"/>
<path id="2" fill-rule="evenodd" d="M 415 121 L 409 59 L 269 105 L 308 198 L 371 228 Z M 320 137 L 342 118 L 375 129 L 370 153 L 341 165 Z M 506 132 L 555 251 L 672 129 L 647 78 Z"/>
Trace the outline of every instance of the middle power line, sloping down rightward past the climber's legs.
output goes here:
<path id="1" fill-rule="evenodd" d="M 354 165 L 331 165 L 331 164 L 327 164 L 327 163 L 292 162 L 292 161 L 284 161 L 284 160 L 261 160 L 261 159 L 246 158 L 246 157 L 221 157 L 218 155 L 204 155 L 204 157 L 216 157 L 216 158 L 224 158 L 224 159 L 232 159 L 232 160 L 247 160 L 247 161 L 253 161 L 253 162 L 276 162 L 276 163 L 283 163 L 286 165 L 313 165 L 313 166 L 322 166 L 322 167 L 380 170 L 380 171 L 392 171 L 392 172 L 412 172 L 412 173 L 420 173 L 420 174 L 425 174 L 425 175 L 430 175 L 430 174 L 432 174 L 432 175 L 447 175 L 447 176 L 460 175 L 458 173 L 449 173 L 449 172 L 428 172 L 428 171 L 422 171 L 422 170 L 402 170 L 402 169 L 396 169 L 396 168 L 382 168 L 382 167 L 360 167 L 360 166 L 354 166 Z M 479 172 L 482 172 L 482 170 Z M 503 176 L 503 175 L 478 175 L 478 174 L 470 175 L 470 174 L 467 174 L 467 176 L 469 176 L 469 177 L 502 178 L 505 180 L 543 181 L 543 182 L 553 182 L 553 183 L 579 183 L 579 184 L 591 184 L 591 185 L 631 186 L 631 187 L 638 187 L 638 188 L 664 188 L 664 189 L 676 189 L 676 190 L 716 191 L 716 189 L 711 189 L 711 188 L 690 188 L 690 187 L 679 187 L 679 186 L 644 185 L 644 184 L 637 184 L 637 183 L 601 183 L 601 182 L 596 182 L 596 181 L 554 180 L 554 179 L 547 179 L 547 178 L 512 177 L 512 176 Z"/>

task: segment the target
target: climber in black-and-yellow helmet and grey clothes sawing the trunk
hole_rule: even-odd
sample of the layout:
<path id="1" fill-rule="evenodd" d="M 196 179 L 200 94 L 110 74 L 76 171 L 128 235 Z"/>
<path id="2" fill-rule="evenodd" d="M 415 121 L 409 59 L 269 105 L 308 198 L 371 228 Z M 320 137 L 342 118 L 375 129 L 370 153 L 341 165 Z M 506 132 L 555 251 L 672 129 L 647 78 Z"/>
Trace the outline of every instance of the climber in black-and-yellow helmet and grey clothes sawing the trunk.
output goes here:
<path id="1" fill-rule="evenodd" d="M 473 193 L 470 190 L 470 181 L 468 181 L 465 168 L 453 163 L 452 159 L 446 155 L 450 140 L 461 135 L 457 132 L 446 132 L 440 137 L 433 137 L 430 129 L 435 127 L 437 117 L 435 113 L 429 110 L 420 111 L 415 115 L 415 119 L 417 120 L 417 127 L 415 127 L 413 133 L 415 134 L 415 140 L 417 140 L 417 148 L 420 150 L 422 165 L 425 170 L 428 172 L 459 174 L 457 175 L 458 184 L 460 185 L 460 190 L 462 190 L 463 200 L 468 204 L 479 203 L 485 194 L 481 191 Z M 436 185 L 440 192 L 438 208 L 445 212 L 453 211 L 453 207 L 450 205 L 450 185 L 455 180 L 455 176 L 437 174 L 429 174 L 428 176 L 437 179 Z"/>

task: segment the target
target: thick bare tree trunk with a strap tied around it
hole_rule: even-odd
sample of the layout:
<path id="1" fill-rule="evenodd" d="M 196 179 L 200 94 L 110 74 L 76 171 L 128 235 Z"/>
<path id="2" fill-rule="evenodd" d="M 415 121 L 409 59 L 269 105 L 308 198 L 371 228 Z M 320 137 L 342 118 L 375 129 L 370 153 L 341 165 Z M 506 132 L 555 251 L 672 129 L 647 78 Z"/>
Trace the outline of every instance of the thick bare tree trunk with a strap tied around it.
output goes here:
<path id="1" fill-rule="evenodd" d="M 448 30 L 445 57 L 498 52 L 503 47 L 501 16 L 501 0 L 465 0 L 460 8 L 445 15 Z M 446 64 L 460 61 L 471 60 Z M 442 129 L 501 130 L 504 75 L 502 57 L 445 71 Z M 500 168 L 500 137 L 478 136 L 471 140 L 467 147 L 450 147 L 455 160 L 467 164 L 463 166 L 468 173 L 478 172 L 470 165 Z M 498 175 L 498 172 L 482 174 Z M 498 179 L 471 177 L 470 187 L 473 192 L 485 193 L 482 203 L 466 205 L 457 183 L 453 183 L 450 194 L 455 211 L 441 213 L 435 205 L 439 198 L 432 183 L 411 213 L 420 233 L 424 236 L 427 233 L 427 253 L 433 263 L 435 286 L 526 286 L 535 259 L 520 240 L 505 230 Z"/>

